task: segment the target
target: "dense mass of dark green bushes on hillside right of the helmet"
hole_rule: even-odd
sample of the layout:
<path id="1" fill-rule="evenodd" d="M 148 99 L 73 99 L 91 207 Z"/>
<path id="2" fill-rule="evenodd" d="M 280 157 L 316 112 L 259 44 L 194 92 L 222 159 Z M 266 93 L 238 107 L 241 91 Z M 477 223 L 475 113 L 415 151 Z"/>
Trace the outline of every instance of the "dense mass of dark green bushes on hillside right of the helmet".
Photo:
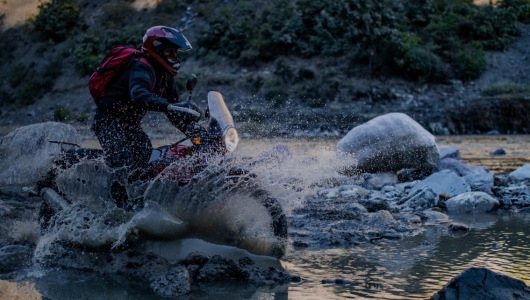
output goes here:
<path id="1" fill-rule="evenodd" d="M 373 74 L 417 81 L 477 78 L 484 50 L 503 50 L 530 18 L 528 0 L 476 6 L 471 0 L 274 0 L 205 14 L 200 55 L 211 51 L 241 62 L 278 55 L 347 56 Z"/>

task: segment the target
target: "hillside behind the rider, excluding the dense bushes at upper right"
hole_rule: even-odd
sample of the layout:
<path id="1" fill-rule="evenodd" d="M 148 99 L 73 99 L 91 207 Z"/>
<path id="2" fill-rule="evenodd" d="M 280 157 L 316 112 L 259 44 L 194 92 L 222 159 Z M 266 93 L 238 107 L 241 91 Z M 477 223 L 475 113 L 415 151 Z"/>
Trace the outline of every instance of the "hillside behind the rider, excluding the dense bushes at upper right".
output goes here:
<path id="1" fill-rule="evenodd" d="M 0 126 L 4 127 L 58 119 L 87 127 L 95 105 L 87 89 L 88 75 L 80 71 L 80 59 L 90 57 L 80 56 L 80 51 L 98 42 L 108 43 L 105 34 L 112 30 L 120 34 L 134 31 L 137 34 L 132 43 L 139 44 L 146 28 L 165 21 L 164 24 L 180 29 L 194 45 L 195 53 L 183 58 L 177 79 L 182 94 L 185 78 L 197 74 L 196 102 L 204 105 L 209 90 L 221 92 L 237 122 L 249 132 L 252 127 L 262 134 L 341 135 L 355 124 L 392 111 L 409 114 L 437 134 L 530 130 L 526 92 L 501 92 L 504 98 L 500 98 L 508 100 L 498 100 L 498 95 L 484 96 L 484 90 L 492 90 L 495 84 L 517 84 L 523 88 L 530 84 L 530 27 L 524 24 L 520 24 L 519 36 L 505 50 L 485 53 L 485 69 L 478 78 L 411 80 L 399 72 L 386 72 L 384 66 L 383 71 L 374 73 L 372 65 L 352 63 L 344 55 L 304 57 L 286 51 L 285 55 L 276 53 L 270 59 L 251 61 L 221 55 L 222 50 L 199 55 L 204 46 L 195 46 L 197 39 L 211 25 L 202 2 L 162 1 L 165 6 L 161 10 L 155 0 L 80 0 L 79 29 L 63 41 L 46 40 L 31 22 L 24 21 L 35 18 L 38 1 L 4 2 L 3 35 L 10 36 L 0 41 L 9 52 L 3 54 L 7 59 L 0 63 Z M 213 14 L 215 5 L 226 3 L 236 5 L 233 1 L 211 2 L 208 9 Z M 125 10 L 130 16 L 120 15 L 124 7 L 132 9 Z M 115 14 L 110 19 L 106 15 L 109 10 Z M 110 25 L 98 27 L 104 18 Z M 281 72 L 286 75 L 278 76 Z M 506 93 L 510 96 L 505 97 Z M 510 112 L 515 107 L 517 113 L 509 117 L 518 125 L 504 124 L 499 121 L 504 116 L 496 115 L 493 121 L 478 126 L 475 123 L 488 114 L 478 115 L 479 120 L 469 115 L 477 115 L 477 109 L 495 113 L 503 105 L 508 105 Z M 150 114 L 146 126 L 167 125 L 160 117 Z M 475 123 L 467 124 L 468 120 Z"/>

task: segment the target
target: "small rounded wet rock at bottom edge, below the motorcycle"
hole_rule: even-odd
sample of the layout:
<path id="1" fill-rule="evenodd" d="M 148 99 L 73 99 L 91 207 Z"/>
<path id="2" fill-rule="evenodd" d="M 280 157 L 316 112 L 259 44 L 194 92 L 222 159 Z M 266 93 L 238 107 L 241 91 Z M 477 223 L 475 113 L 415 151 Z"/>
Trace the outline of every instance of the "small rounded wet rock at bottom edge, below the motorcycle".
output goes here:
<path id="1" fill-rule="evenodd" d="M 153 276 L 150 286 L 155 294 L 166 298 L 185 295 L 191 291 L 190 276 L 184 266 L 176 266 L 164 274 Z"/>

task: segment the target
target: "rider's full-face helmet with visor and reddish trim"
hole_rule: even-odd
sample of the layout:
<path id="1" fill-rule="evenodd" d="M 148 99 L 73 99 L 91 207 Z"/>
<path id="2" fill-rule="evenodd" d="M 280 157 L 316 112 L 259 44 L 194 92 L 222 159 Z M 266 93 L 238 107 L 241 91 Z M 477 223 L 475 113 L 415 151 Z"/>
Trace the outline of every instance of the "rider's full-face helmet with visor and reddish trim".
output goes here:
<path id="1" fill-rule="evenodd" d="M 147 29 L 142 43 L 142 51 L 147 57 L 156 60 L 173 76 L 180 69 L 177 51 L 188 51 L 191 44 L 175 28 L 155 26 Z"/>

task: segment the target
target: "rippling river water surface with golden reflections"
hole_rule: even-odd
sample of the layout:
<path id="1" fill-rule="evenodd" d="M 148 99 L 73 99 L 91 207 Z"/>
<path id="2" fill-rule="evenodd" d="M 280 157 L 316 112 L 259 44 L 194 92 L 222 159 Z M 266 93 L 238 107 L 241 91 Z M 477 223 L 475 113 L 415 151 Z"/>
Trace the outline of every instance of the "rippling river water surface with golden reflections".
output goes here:
<path id="1" fill-rule="evenodd" d="M 458 148 L 462 160 L 494 173 L 508 173 L 530 163 L 530 137 L 439 136 L 440 149 Z M 242 140 L 242 155 L 255 155 L 283 143 L 300 156 L 330 153 L 337 139 Z M 158 139 L 155 145 L 169 143 Z M 95 146 L 86 140 L 83 146 Z M 499 148 L 505 156 L 490 156 Z M 400 241 L 378 240 L 352 248 L 290 249 L 282 260 L 252 256 L 261 266 L 281 266 L 301 276 L 299 283 L 254 287 L 222 282 L 194 285 L 187 299 L 425 299 L 469 267 L 487 267 L 530 284 L 530 214 L 508 213 L 451 216 L 470 226 L 465 236 L 452 236 L 448 224 L 426 226 L 426 231 Z M 199 240 L 148 246 L 168 259 L 194 250 L 238 258 L 242 250 Z M 323 284 L 342 278 L 351 283 Z M 160 299 L 134 282 L 79 271 L 32 269 L 15 281 L 0 280 L 0 299 Z"/>

